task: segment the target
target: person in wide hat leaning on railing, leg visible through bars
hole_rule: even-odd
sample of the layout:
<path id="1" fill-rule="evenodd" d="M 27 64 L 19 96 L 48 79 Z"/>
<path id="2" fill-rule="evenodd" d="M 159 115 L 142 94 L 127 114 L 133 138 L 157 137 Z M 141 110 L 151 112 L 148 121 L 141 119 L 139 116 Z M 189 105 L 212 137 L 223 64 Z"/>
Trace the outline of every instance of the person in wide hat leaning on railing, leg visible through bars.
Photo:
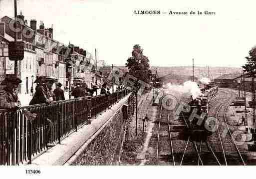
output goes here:
<path id="1" fill-rule="evenodd" d="M 36 82 L 39 82 L 39 86 L 36 89 L 35 94 L 32 100 L 30 101 L 29 105 L 51 103 L 53 101 L 53 94 L 50 91 L 50 89 L 52 89 L 52 85 L 54 82 L 56 82 L 56 79 L 44 76 L 35 81 L 35 83 Z M 50 116 L 50 114 L 48 115 Z M 46 121 L 47 125 L 47 147 L 53 147 L 54 144 L 50 143 L 52 122 L 47 116 L 44 116 L 44 120 Z"/>

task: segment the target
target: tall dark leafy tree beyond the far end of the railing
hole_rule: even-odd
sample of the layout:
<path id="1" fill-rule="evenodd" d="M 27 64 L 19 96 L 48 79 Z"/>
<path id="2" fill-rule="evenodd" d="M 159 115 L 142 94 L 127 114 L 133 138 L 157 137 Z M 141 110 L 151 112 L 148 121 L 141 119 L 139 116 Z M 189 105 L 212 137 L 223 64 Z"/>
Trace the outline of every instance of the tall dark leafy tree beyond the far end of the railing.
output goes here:
<path id="1" fill-rule="evenodd" d="M 146 83 L 150 81 L 149 59 L 143 55 L 140 45 L 133 46 L 132 56 L 127 59 L 125 66 L 128 67 L 130 75 Z"/>

